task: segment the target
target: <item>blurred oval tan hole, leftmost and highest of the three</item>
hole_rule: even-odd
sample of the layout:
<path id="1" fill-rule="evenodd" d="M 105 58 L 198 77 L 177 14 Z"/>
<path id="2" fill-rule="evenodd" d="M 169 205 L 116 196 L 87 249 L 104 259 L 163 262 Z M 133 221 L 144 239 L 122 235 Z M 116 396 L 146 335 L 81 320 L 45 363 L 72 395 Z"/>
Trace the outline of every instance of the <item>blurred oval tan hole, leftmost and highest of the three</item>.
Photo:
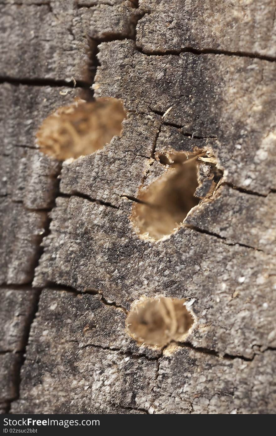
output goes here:
<path id="1" fill-rule="evenodd" d="M 103 148 L 113 136 L 120 135 L 125 118 L 119 99 L 76 99 L 44 119 L 37 132 L 37 144 L 43 153 L 58 160 L 76 159 Z"/>

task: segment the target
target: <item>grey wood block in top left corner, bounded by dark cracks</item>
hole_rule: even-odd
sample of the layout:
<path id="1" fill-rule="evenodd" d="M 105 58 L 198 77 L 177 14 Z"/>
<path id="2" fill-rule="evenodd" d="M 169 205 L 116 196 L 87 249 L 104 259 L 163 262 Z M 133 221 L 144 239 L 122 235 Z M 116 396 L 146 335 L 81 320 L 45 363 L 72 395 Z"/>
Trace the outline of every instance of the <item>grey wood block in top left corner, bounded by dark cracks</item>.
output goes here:
<path id="1" fill-rule="evenodd" d="M 98 39 L 133 36 L 132 24 L 139 14 L 130 1 L 113 2 L 114 6 L 93 3 L 91 7 L 82 7 L 82 3 L 76 7 L 75 0 L 54 0 L 48 4 L 41 1 L 41 5 L 32 1 L 20 5 L 16 1 L 1 1 L 1 75 L 63 81 L 85 78 L 82 76 L 89 63 L 88 36 Z"/>

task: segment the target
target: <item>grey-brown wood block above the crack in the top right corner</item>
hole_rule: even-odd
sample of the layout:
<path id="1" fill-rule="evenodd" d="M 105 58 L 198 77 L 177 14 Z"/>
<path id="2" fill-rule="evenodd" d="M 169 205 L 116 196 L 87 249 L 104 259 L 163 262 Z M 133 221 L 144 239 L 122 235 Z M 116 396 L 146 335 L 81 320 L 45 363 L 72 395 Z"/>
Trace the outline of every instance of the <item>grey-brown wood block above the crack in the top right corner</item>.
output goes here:
<path id="1" fill-rule="evenodd" d="M 140 0 L 147 11 L 137 26 L 137 46 L 154 51 L 223 50 L 275 56 L 275 2 Z"/>

